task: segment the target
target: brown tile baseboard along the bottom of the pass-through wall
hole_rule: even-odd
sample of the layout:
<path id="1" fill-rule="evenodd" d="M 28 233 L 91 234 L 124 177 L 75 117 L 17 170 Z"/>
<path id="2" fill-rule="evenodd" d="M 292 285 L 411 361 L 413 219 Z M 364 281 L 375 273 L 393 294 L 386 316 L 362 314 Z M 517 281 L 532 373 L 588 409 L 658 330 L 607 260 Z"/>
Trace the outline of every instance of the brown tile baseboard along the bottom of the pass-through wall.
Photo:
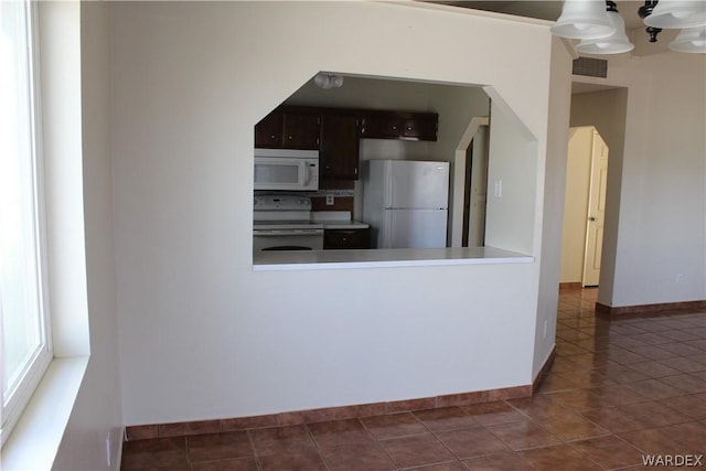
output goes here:
<path id="1" fill-rule="evenodd" d="M 547 363 L 549 363 L 549 361 L 553 358 L 554 351 Z M 545 366 L 543 366 L 539 376 L 543 376 L 548 368 L 547 363 L 545 363 Z M 388 415 L 422 409 L 435 409 L 441 407 L 469 406 L 472 404 L 530 397 L 532 396 L 533 390 L 535 390 L 534 385 L 526 385 L 504 387 L 500 389 L 479 390 L 473 393 L 448 394 L 418 399 L 362 404 L 342 407 L 328 407 L 321 409 L 297 410 L 253 417 L 129 426 L 126 427 L 125 430 L 125 440 L 133 441 L 150 438 L 185 437 L 202 433 L 242 431 L 256 428 L 282 427 L 328 420 L 363 418 L 370 416 Z"/>

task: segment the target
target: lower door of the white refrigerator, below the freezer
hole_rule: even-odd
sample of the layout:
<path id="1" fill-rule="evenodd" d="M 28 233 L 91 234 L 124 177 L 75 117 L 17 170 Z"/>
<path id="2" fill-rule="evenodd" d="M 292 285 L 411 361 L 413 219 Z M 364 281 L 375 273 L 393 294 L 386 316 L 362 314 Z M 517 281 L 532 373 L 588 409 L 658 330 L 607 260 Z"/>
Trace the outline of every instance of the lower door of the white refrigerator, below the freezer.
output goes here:
<path id="1" fill-rule="evenodd" d="M 386 210 L 378 248 L 446 247 L 446 210 Z"/>

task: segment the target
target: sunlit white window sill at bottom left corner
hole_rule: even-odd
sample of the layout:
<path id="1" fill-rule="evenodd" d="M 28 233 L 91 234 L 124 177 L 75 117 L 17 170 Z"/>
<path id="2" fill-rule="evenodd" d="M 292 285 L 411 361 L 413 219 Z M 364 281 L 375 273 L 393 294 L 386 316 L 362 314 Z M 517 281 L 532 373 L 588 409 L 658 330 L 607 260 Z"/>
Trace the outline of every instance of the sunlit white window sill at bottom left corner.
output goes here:
<path id="1" fill-rule="evenodd" d="M 2 470 L 51 470 L 88 355 L 54 358 L 2 447 Z"/>

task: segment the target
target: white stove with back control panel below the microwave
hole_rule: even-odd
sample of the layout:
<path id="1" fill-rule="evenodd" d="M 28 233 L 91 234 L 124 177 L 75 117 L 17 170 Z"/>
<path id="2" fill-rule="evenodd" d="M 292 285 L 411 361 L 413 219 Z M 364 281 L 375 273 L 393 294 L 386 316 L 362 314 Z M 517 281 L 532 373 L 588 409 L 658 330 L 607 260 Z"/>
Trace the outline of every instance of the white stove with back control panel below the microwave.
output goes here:
<path id="1" fill-rule="evenodd" d="M 253 250 L 321 250 L 323 225 L 311 222 L 311 199 L 257 195 L 253 212 Z"/>

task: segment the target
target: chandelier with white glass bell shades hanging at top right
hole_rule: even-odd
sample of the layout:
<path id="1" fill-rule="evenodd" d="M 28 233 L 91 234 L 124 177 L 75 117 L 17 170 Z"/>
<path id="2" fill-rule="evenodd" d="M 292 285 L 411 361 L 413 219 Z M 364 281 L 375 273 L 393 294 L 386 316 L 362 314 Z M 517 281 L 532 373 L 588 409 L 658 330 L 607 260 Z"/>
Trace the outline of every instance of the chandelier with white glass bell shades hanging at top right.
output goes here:
<path id="1" fill-rule="evenodd" d="M 650 42 L 657 41 L 662 29 L 681 29 L 668 47 L 677 52 L 706 54 L 705 0 L 645 1 L 638 14 L 648 26 L 645 31 Z M 614 1 L 565 0 L 552 33 L 580 40 L 576 50 L 586 54 L 618 54 L 634 49 Z"/>

